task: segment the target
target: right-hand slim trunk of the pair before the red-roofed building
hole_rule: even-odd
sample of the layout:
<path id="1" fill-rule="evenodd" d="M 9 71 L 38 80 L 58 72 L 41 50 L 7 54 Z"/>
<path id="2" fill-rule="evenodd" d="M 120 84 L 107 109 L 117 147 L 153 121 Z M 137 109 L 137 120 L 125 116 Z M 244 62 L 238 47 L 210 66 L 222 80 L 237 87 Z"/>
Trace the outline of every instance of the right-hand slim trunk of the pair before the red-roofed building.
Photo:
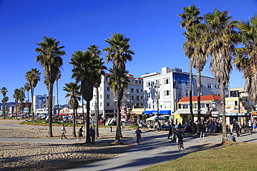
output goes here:
<path id="1" fill-rule="evenodd" d="M 197 70 L 197 134 L 201 132 L 201 72 Z"/>

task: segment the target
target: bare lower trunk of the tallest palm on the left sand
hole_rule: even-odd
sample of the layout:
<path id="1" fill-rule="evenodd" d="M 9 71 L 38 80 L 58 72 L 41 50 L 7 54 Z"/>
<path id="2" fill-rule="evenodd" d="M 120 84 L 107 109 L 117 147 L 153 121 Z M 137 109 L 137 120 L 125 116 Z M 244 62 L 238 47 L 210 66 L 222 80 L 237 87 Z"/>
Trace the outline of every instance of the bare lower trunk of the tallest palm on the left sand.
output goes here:
<path id="1" fill-rule="evenodd" d="M 52 130 L 52 109 L 53 109 L 53 84 L 49 83 L 49 91 L 48 91 L 48 122 L 49 122 L 49 137 L 53 137 Z"/>

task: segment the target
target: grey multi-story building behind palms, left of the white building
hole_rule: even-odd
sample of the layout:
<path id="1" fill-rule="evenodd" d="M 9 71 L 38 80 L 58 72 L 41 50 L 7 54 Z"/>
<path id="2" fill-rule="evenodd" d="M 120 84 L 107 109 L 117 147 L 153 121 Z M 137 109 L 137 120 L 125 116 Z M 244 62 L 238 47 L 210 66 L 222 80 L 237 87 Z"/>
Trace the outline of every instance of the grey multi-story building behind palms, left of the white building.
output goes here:
<path id="1" fill-rule="evenodd" d="M 108 86 L 108 75 L 102 75 L 101 85 L 99 87 L 99 114 L 103 117 L 113 117 L 117 113 L 117 100 L 113 91 Z M 144 92 L 143 92 L 143 79 L 134 78 L 133 75 L 126 75 L 130 82 L 128 87 L 124 91 L 124 96 L 122 98 L 122 115 L 127 116 L 129 111 L 133 108 L 142 108 L 144 106 Z M 95 89 L 94 97 L 90 101 L 90 113 L 94 114 L 96 109 L 96 98 Z"/>

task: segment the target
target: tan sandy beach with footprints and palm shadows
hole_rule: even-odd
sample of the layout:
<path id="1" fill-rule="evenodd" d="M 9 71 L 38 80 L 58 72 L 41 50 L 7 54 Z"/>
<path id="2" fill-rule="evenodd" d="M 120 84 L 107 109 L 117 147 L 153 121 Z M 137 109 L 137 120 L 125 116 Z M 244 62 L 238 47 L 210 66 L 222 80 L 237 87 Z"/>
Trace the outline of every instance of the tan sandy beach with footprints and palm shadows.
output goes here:
<path id="1" fill-rule="evenodd" d="M 49 138 L 48 127 L 6 127 L 8 123 L 20 120 L 0 119 L 0 137 Z M 78 129 L 78 128 L 77 128 Z M 72 137 L 72 129 L 67 129 L 67 138 Z M 128 136 L 123 135 L 124 138 Z M 53 127 L 53 137 L 60 138 L 60 127 Z M 99 132 L 99 138 L 112 138 L 115 132 Z M 82 142 L 82 141 L 81 141 Z M 108 159 L 126 152 L 133 144 L 41 144 L 41 143 L 0 143 L 0 170 L 67 170 L 94 161 Z"/>

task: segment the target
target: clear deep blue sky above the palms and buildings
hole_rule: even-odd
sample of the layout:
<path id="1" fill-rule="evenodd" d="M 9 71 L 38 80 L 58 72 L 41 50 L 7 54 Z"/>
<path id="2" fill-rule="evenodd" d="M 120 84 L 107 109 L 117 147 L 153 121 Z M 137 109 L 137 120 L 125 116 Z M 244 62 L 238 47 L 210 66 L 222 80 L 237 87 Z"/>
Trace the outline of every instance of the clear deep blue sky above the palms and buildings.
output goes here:
<path id="1" fill-rule="evenodd" d="M 229 10 L 231 17 L 241 21 L 254 16 L 257 9 L 256 0 L 0 0 L 0 87 L 8 89 L 6 96 L 13 102 L 13 91 L 24 86 L 26 72 L 32 68 L 43 72 L 35 62 L 34 50 L 35 43 L 41 42 L 44 36 L 60 40 L 67 54 L 63 57 L 62 78 L 58 84 L 60 104 L 65 104 L 65 83 L 74 82 L 69 64 L 71 54 L 85 51 L 92 44 L 106 48 L 104 39 L 112 33 L 131 38 L 135 55 L 132 62 L 127 62 L 126 69 L 134 77 L 160 72 L 165 66 L 189 72 L 188 59 L 182 51 L 184 30 L 178 15 L 183 13 L 183 7 L 192 4 L 200 8 L 201 15 L 218 8 Z M 101 55 L 104 61 L 105 55 L 104 52 Z M 111 64 L 107 66 L 110 68 Z M 201 75 L 213 77 L 209 64 Z M 48 93 L 43 75 L 41 77 L 35 95 Z M 242 73 L 233 69 L 230 82 L 232 88 L 243 87 Z M 54 87 L 53 96 L 56 96 L 56 84 Z"/>

